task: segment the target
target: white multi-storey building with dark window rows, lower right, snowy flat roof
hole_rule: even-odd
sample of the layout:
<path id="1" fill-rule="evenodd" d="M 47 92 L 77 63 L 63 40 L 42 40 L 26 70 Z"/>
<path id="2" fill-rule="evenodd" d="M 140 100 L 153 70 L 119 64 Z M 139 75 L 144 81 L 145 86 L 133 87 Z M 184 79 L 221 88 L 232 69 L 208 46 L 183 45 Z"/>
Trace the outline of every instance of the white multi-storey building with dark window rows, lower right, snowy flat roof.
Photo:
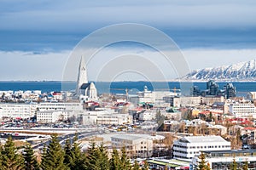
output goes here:
<path id="1" fill-rule="evenodd" d="M 220 136 L 188 136 L 173 143 L 173 158 L 192 160 L 200 151 L 230 150 L 230 142 Z"/>

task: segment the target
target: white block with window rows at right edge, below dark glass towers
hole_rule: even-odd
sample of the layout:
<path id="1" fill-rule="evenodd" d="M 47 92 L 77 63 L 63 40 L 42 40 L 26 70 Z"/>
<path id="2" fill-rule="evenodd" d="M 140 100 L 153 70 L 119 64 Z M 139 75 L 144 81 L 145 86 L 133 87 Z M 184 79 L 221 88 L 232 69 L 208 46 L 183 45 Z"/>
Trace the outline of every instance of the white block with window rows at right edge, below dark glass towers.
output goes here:
<path id="1" fill-rule="evenodd" d="M 236 102 L 230 104 L 230 113 L 236 117 L 256 118 L 255 105 L 250 102 Z"/>

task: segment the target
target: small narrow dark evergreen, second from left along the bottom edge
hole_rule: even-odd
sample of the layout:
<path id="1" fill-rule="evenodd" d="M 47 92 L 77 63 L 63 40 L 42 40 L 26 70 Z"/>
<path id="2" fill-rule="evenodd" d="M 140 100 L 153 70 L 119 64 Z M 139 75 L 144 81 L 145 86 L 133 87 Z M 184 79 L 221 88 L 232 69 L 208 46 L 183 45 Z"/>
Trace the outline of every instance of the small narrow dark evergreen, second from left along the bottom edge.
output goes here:
<path id="1" fill-rule="evenodd" d="M 26 170 L 39 169 L 38 161 L 37 161 L 37 158 L 34 156 L 34 151 L 32 150 L 31 144 L 26 144 L 23 157 L 25 161 Z"/>

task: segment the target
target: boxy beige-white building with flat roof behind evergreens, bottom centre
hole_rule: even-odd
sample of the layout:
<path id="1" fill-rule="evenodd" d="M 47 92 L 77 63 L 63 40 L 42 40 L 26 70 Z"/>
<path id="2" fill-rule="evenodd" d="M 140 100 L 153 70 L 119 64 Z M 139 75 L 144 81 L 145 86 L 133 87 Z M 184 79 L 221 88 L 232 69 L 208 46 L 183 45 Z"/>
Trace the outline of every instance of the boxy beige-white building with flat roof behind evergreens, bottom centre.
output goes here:
<path id="1" fill-rule="evenodd" d="M 127 155 L 131 157 L 150 157 L 153 153 L 153 140 L 139 135 L 119 134 L 111 137 L 113 148 L 125 147 Z"/>

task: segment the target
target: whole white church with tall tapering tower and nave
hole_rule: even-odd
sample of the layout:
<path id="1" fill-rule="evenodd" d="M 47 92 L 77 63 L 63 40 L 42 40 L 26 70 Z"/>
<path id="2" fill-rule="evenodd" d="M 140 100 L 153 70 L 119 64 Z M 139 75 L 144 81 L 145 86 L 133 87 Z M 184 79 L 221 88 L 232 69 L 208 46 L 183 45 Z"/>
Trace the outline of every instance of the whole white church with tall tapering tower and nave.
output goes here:
<path id="1" fill-rule="evenodd" d="M 81 57 L 79 64 L 79 76 L 77 81 L 76 95 L 82 102 L 98 100 L 95 84 L 93 82 L 88 82 L 87 69 L 83 57 Z"/>

